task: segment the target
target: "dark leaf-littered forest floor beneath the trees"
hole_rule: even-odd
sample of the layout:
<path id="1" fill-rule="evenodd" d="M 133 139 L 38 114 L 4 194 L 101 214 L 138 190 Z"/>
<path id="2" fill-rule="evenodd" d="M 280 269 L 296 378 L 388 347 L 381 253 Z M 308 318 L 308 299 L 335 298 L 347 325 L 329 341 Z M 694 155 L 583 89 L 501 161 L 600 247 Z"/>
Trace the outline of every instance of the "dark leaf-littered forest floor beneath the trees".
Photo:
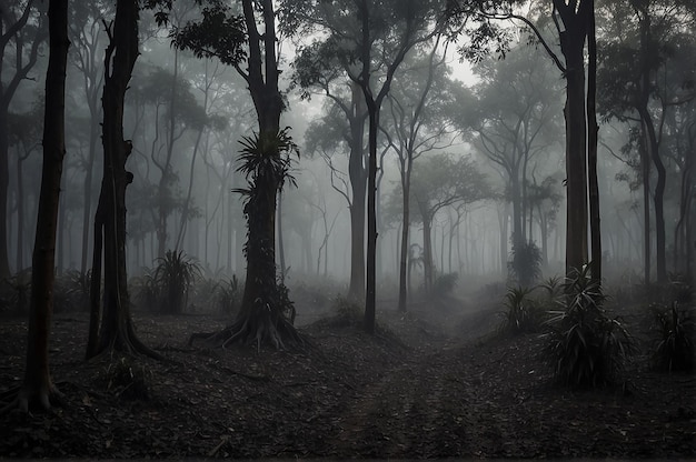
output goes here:
<path id="1" fill-rule="evenodd" d="M 615 386 L 560 389 L 539 335 L 481 337 L 497 310 L 453 303 L 382 310 L 374 337 L 347 313 L 298 307 L 314 346 L 295 353 L 190 348 L 225 320 L 136 314 L 170 362 L 84 362 L 87 314 L 57 314 L 51 373 L 66 404 L 3 415 L 0 458 L 695 456 L 696 376 L 636 364 Z M 21 381 L 26 337 L 23 319 L 0 321 L 0 393 Z"/>

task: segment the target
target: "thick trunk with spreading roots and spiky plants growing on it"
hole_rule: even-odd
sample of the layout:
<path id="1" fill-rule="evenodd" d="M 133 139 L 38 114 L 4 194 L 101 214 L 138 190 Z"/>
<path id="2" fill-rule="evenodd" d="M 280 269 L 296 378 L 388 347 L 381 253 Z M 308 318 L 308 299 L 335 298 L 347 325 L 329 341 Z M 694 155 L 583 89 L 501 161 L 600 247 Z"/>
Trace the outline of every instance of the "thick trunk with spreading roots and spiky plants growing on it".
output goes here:
<path id="1" fill-rule="evenodd" d="M 276 56 L 274 4 L 271 0 L 242 0 L 241 3 L 249 47 L 247 72 L 242 76 L 249 86 L 259 123 L 258 145 L 247 148 L 255 155 L 260 155 L 257 161 L 264 157 L 266 161 L 279 161 L 281 152 L 278 142 L 285 137 L 279 130 L 280 113 L 285 104 L 278 89 L 280 71 Z M 256 17 L 259 11 L 265 26 L 262 34 L 259 33 Z M 237 69 L 240 70 L 239 67 Z M 251 158 L 248 160 L 253 163 Z M 276 200 L 282 179 L 272 169 L 256 170 L 242 165 L 240 170 L 250 177 L 245 205 L 248 221 L 247 278 L 241 308 L 232 325 L 216 333 L 195 333 L 189 343 L 195 339 L 205 339 L 209 344 L 221 346 L 241 343 L 256 344 L 259 349 L 262 344 L 277 349 L 301 348 L 305 341 L 285 315 L 286 309 L 292 308 L 291 303 L 287 300 L 285 288 L 276 280 Z"/>

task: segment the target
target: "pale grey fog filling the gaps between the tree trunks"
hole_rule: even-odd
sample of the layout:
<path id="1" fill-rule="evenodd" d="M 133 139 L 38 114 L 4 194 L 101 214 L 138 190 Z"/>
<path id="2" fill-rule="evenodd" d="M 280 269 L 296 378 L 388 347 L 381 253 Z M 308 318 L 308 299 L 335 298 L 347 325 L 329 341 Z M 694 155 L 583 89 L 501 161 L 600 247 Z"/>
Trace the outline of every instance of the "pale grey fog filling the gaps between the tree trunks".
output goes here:
<path id="1" fill-rule="evenodd" d="M 195 14 L 189 9 L 178 10 L 172 23 L 183 24 Z M 98 16 L 87 13 L 82 21 L 72 24 L 69 51 L 59 272 L 89 270 L 91 223 L 102 169 L 100 83 L 107 37 Z M 609 26 L 605 29 L 608 33 Z M 529 46 L 525 33 L 515 33 L 518 36 L 505 59 L 491 52 L 478 62 L 467 62 L 456 46 L 445 40 L 438 43 L 435 78 L 425 97 L 425 110 L 415 120 L 420 131 L 410 140 L 415 145 L 414 175 L 426 171 L 429 160 L 444 154 L 454 161 L 469 160 L 485 183 L 486 193 L 479 198 L 428 199 L 431 205 L 444 200 L 431 210 L 436 277 L 457 273 L 463 289 L 509 277 L 514 234 L 540 250 L 544 274 L 564 271 L 564 76 L 543 47 Z M 246 221 L 242 199 L 233 190 L 243 188 L 246 180 L 236 171 L 237 152 L 240 139 L 258 130 L 247 83 L 232 67 L 217 59 L 198 59 L 190 51 L 171 47 L 168 30 L 157 28 L 149 12 L 143 13 L 140 34 L 141 54 L 126 101 L 125 132 L 133 147 L 127 165 L 133 173 L 127 193 L 129 277 L 142 275 L 167 250 L 176 249 L 193 258 L 208 278 L 243 278 Z M 280 269 L 278 259 L 285 260 L 289 285 L 326 279 L 346 289 L 351 262 L 350 145 L 347 122 L 341 120 L 336 102 L 345 100 L 349 89 L 345 77 L 330 83 L 330 98 L 318 84 L 300 88 L 292 83 L 295 50 L 302 44 L 307 43 L 279 43 L 287 102 L 281 125 L 290 127 L 300 155 L 291 171 L 296 184 L 286 184 L 278 204 L 282 252 L 277 248 L 277 263 Z M 430 51 L 421 47 L 409 52 L 381 109 L 377 279 L 385 293 L 394 294 L 399 278 L 399 203 L 404 192 L 398 155 L 405 145 L 399 144 L 397 134 L 402 127 L 397 122 L 399 117 L 402 122 L 415 114 L 417 97 L 428 79 L 424 60 Z M 12 73 L 12 53 L 4 60 L 3 82 Z M 685 74 L 694 71 L 692 64 L 685 63 Z M 44 68 L 42 52 L 10 103 L 6 225 L 12 273 L 28 268 L 31 261 Z M 692 194 L 680 191 L 692 188 L 684 169 L 686 159 L 693 158 L 694 107 L 685 98 L 674 109 L 660 109 L 655 99 L 650 110 L 662 117 L 665 139 L 660 155 L 667 169 L 664 214 L 668 268 L 679 272 L 689 264 L 683 253 L 684 242 L 688 247 L 693 240 L 690 234 L 684 238 L 690 225 L 676 227 L 693 214 Z M 644 272 L 646 239 L 637 125 L 632 119 L 635 114 L 622 119 L 610 117 L 608 110 L 606 113 L 599 128 L 597 168 L 605 272 L 633 280 Z M 364 137 L 358 143 L 366 147 L 366 129 Z M 424 175 L 419 179 L 425 181 L 425 191 L 451 180 Z M 652 207 L 654 194 L 648 195 Z M 408 245 L 417 260 L 425 247 L 424 222 L 417 208 L 410 215 Z M 411 278 L 415 288 L 424 284 L 421 264 L 414 265 Z"/>

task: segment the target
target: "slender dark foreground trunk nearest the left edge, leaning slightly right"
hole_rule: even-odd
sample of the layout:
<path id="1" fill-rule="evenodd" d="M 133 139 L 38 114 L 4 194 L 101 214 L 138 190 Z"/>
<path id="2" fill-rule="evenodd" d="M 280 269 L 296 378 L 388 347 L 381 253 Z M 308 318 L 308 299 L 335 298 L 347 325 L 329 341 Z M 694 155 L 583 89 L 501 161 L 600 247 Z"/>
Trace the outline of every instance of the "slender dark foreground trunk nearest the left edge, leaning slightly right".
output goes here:
<path id="1" fill-rule="evenodd" d="M 66 68 L 68 61 L 68 0 L 49 4 L 50 54 L 46 74 L 43 168 L 31 271 L 31 308 L 27 342 L 27 366 L 19 394 L 20 409 L 50 409 L 56 390 L 51 383 L 48 340 L 56 279 L 56 232 L 60 180 L 66 155 Z"/>

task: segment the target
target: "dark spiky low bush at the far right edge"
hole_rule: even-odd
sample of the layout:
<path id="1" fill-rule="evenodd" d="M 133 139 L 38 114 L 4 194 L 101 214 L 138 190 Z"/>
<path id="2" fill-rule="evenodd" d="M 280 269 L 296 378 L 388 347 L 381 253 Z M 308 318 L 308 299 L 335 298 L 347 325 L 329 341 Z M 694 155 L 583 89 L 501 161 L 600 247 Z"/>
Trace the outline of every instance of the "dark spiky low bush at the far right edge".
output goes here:
<path id="1" fill-rule="evenodd" d="M 696 362 L 696 315 L 694 309 L 679 308 L 675 301 L 668 309 L 652 307 L 653 365 L 673 372 L 694 370 Z"/>

